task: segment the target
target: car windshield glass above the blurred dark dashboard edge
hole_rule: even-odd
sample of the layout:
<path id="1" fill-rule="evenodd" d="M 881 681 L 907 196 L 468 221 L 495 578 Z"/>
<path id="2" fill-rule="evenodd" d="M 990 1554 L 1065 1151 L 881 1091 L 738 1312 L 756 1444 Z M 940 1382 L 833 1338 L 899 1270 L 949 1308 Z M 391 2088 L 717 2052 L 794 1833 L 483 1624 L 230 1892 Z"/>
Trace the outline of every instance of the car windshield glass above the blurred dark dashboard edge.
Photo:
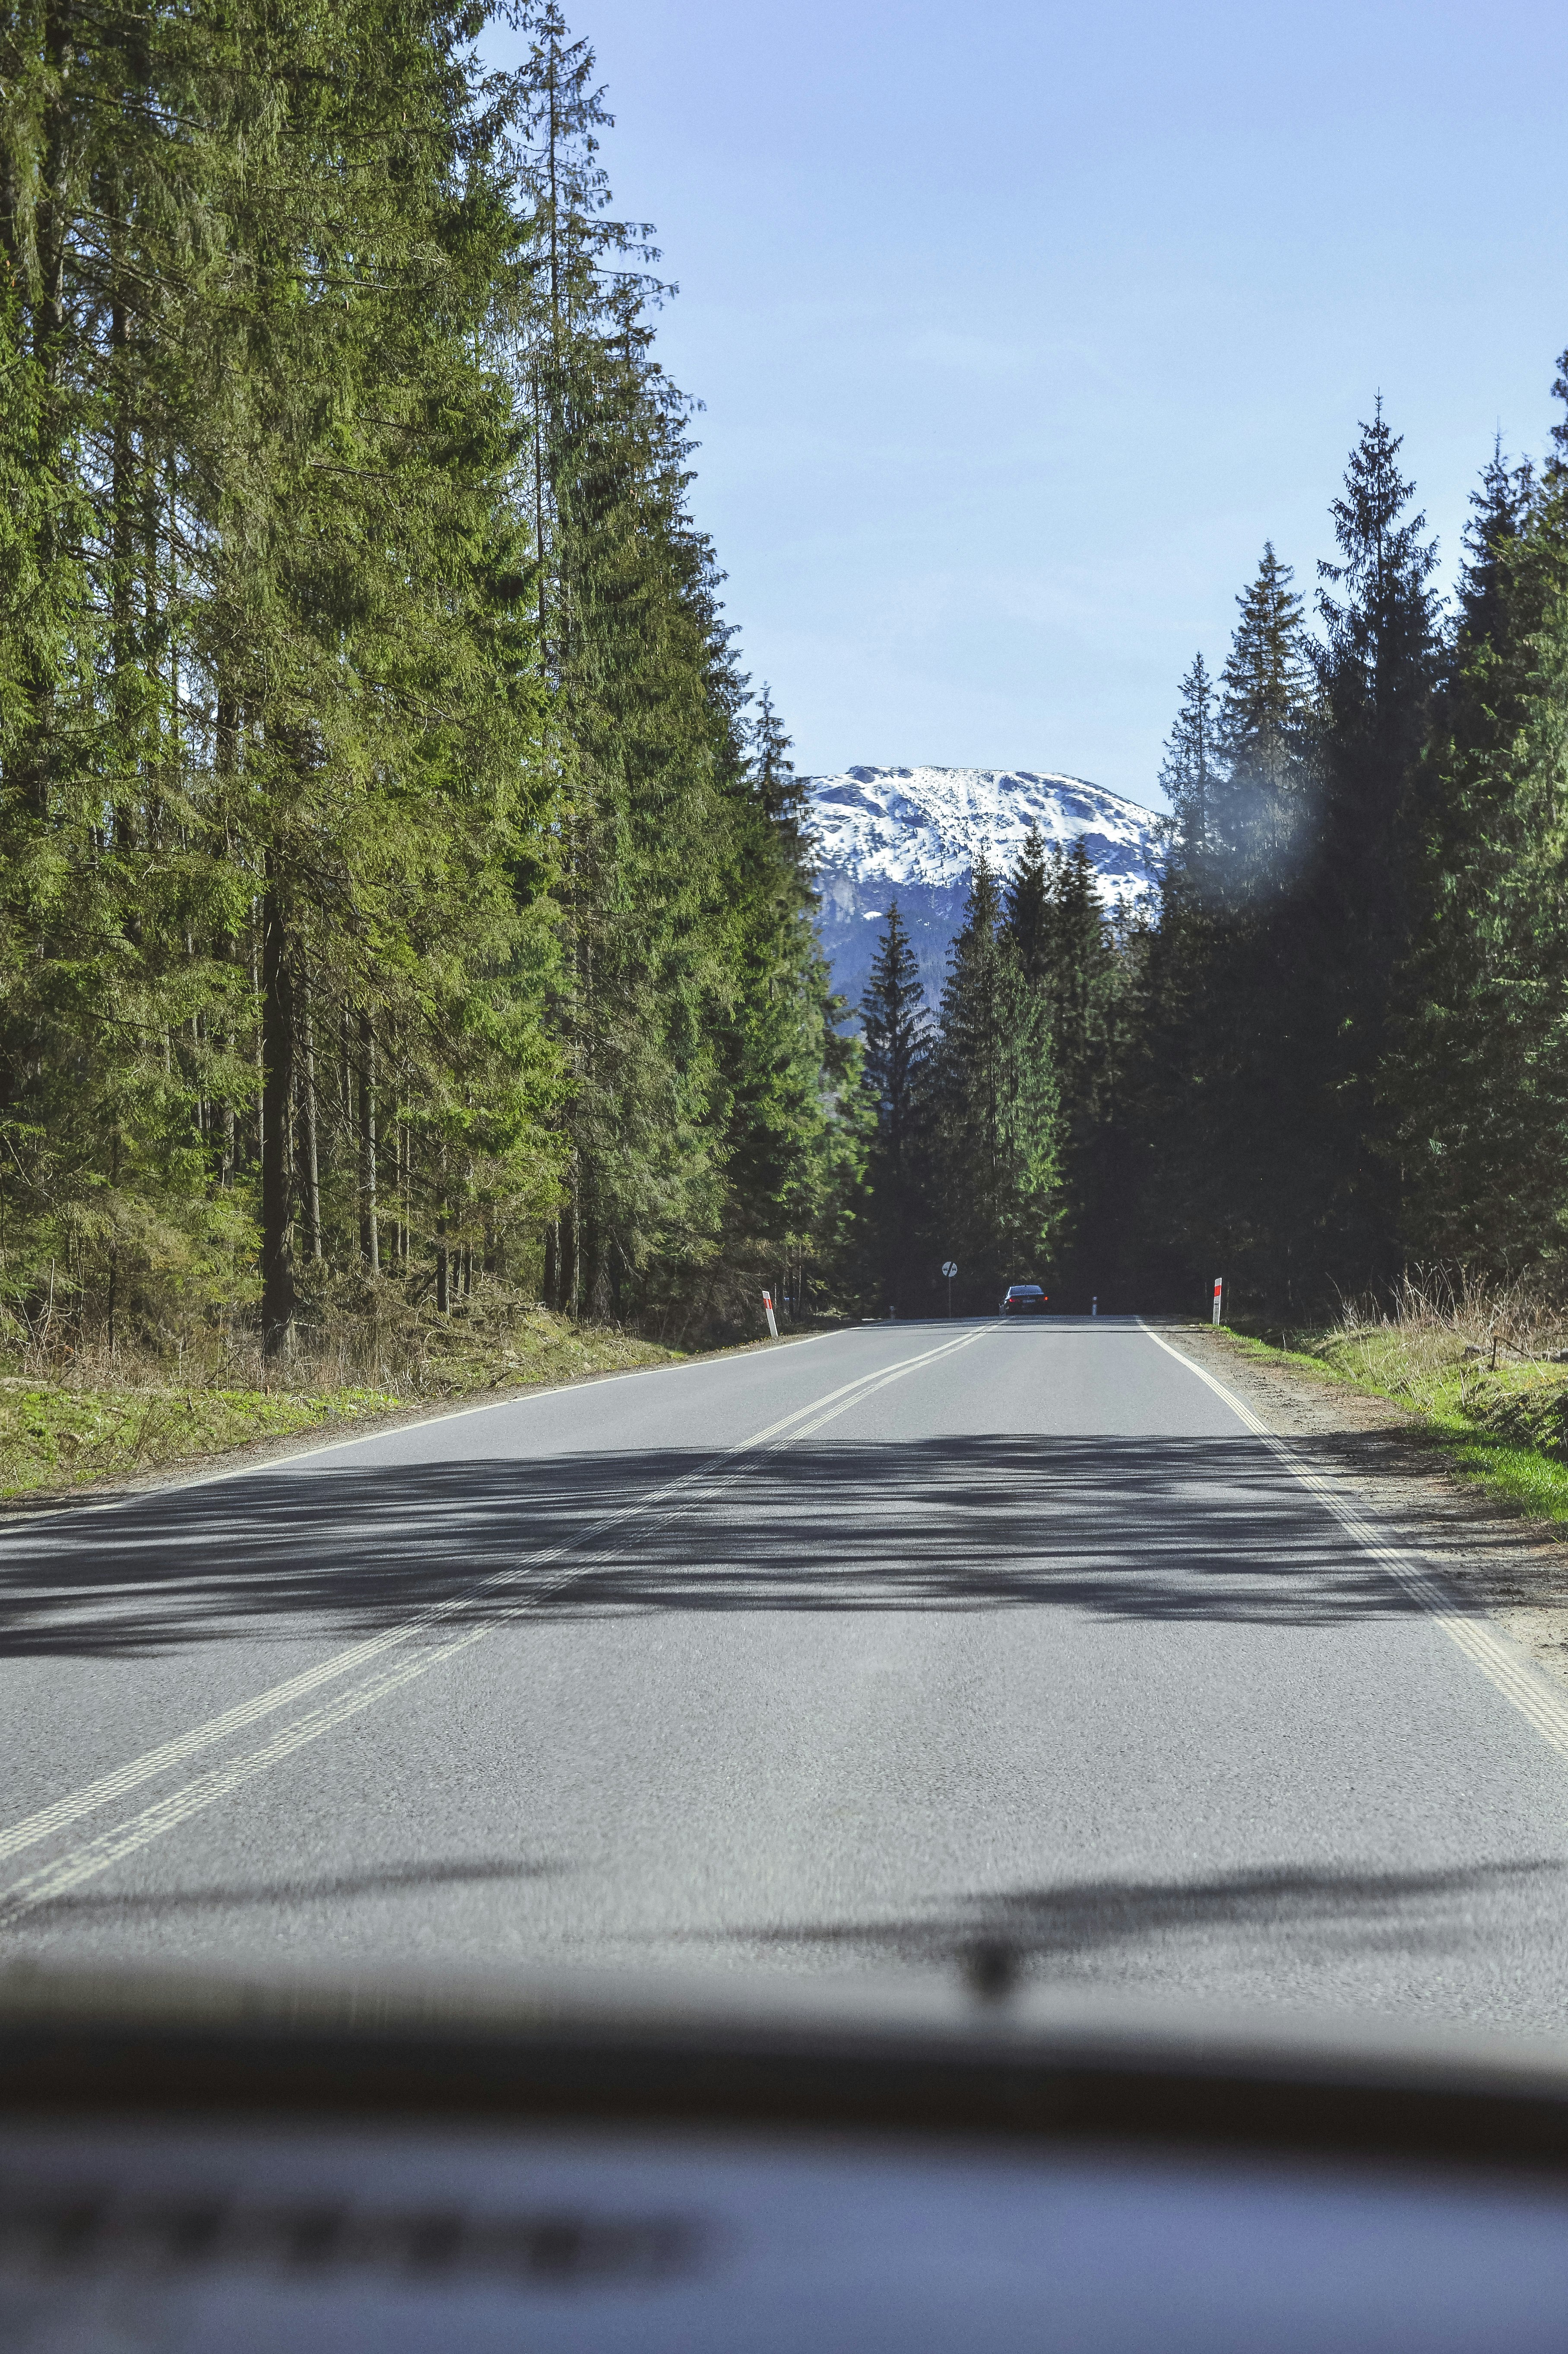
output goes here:
<path id="1" fill-rule="evenodd" d="M 902 16 L 12 59 L 5 1963 L 1563 2027 L 1568 35 Z"/>

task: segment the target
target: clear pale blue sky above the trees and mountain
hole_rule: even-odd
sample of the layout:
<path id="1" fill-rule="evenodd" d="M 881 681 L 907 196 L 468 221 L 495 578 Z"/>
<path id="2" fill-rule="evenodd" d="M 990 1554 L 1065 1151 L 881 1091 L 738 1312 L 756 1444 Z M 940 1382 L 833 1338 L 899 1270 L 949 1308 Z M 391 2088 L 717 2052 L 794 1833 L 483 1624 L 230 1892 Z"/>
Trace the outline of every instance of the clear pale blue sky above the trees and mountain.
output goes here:
<path id="1" fill-rule="evenodd" d="M 680 297 L 695 508 L 808 772 L 1158 803 L 1264 539 L 1377 391 L 1453 567 L 1568 344 L 1568 12 L 582 0 Z"/>

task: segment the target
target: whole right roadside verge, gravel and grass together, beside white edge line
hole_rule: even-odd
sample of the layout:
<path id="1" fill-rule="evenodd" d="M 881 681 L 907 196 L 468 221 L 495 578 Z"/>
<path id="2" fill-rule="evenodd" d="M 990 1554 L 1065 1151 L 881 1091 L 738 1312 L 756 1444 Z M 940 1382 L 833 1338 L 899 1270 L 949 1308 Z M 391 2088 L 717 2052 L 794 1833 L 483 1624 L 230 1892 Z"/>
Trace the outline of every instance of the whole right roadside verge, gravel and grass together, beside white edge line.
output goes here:
<path id="1" fill-rule="evenodd" d="M 1288 1349 L 1210 1325 L 1170 1337 L 1568 1683 L 1568 1467 L 1528 1436 L 1559 1427 L 1563 1370 L 1500 1365 L 1500 1379 L 1490 1349 L 1446 1365 L 1457 1351 L 1401 1344 L 1398 1328 Z"/>

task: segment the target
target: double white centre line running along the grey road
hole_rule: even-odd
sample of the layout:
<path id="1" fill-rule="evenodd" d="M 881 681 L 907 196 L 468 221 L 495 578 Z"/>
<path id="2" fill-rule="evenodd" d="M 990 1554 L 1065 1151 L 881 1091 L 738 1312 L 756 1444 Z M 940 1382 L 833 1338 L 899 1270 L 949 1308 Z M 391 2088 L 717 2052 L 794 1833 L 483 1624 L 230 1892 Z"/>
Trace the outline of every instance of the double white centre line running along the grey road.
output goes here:
<path id="1" fill-rule="evenodd" d="M 683 1471 L 680 1478 L 666 1481 L 662 1488 L 652 1488 L 633 1504 L 624 1504 L 619 1511 L 605 1514 L 600 1521 L 593 1521 L 589 1528 L 577 1530 L 572 1537 L 563 1540 L 549 1551 L 527 1554 L 511 1568 L 497 1570 L 492 1577 L 483 1577 L 476 1584 L 464 1587 L 461 1594 L 454 1594 L 443 1603 L 433 1603 L 428 1610 L 421 1610 L 403 1627 L 388 1627 L 384 1634 L 367 1636 L 363 1643 L 351 1643 L 346 1650 L 334 1653 L 330 1660 L 320 1660 L 315 1667 L 304 1669 L 299 1676 L 290 1676 L 287 1683 L 278 1683 L 266 1693 L 257 1693 L 252 1700 L 242 1700 L 238 1702 L 238 1707 L 224 1709 L 221 1716 L 212 1716 L 205 1723 L 193 1725 L 188 1733 L 174 1735 L 174 1740 L 160 1742 L 155 1749 L 146 1749 L 139 1758 L 129 1758 L 113 1773 L 99 1775 L 99 1780 L 82 1784 L 82 1789 L 66 1791 L 52 1806 L 45 1806 L 35 1815 L 26 1815 L 21 1822 L 14 1822 L 5 1831 L 0 1831 L 0 1860 L 19 1855 L 24 1848 L 38 1846 L 54 1831 L 68 1829 L 73 1822 L 80 1822 L 82 1815 L 92 1815 L 101 1806 L 108 1806 L 113 1798 L 122 1798 L 132 1789 L 139 1789 L 144 1782 L 155 1780 L 160 1773 L 170 1773 L 170 1768 L 184 1766 L 186 1758 L 198 1756 L 202 1749 L 212 1749 L 231 1733 L 242 1733 L 261 1716 L 273 1716 L 278 1709 L 285 1709 L 290 1702 L 301 1700 L 318 1685 L 330 1683 L 337 1676 L 346 1676 L 356 1667 L 365 1667 L 381 1653 L 414 1641 L 419 1634 L 436 1629 L 443 1620 L 452 1620 L 457 1612 L 471 1608 L 480 1596 L 494 1594 L 499 1587 L 511 1584 L 523 1570 L 549 1568 L 553 1561 L 563 1561 L 567 1554 L 582 1551 L 582 1547 L 589 1544 L 593 1537 L 603 1537 L 607 1530 L 619 1528 L 626 1521 L 643 1518 L 650 1511 L 659 1514 L 659 1507 L 673 1499 L 697 1502 L 697 1495 L 690 1495 L 690 1490 L 697 1490 L 699 1483 L 704 1481 L 713 1481 L 716 1474 L 723 1474 L 725 1464 L 735 1464 L 739 1457 L 751 1455 L 765 1445 L 789 1445 L 791 1436 L 793 1438 L 810 1436 L 812 1431 L 822 1429 L 824 1422 L 831 1422 L 836 1415 L 845 1415 L 852 1405 L 859 1403 L 859 1396 L 852 1396 L 852 1391 L 869 1394 L 871 1389 L 883 1389 L 888 1382 L 897 1382 L 906 1372 L 918 1372 L 923 1365 L 930 1365 L 939 1356 L 951 1356 L 956 1349 L 965 1349 L 970 1342 L 979 1339 L 986 1330 L 989 1325 L 963 1332 L 961 1337 L 942 1342 L 935 1349 L 925 1349 L 921 1356 L 904 1358 L 899 1365 L 892 1368 L 876 1365 L 871 1372 L 862 1372 L 857 1379 L 843 1382 L 838 1389 L 829 1389 L 819 1398 L 810 1398 L 805 1405 L 798 1405 L 793 1412 L 782 1415 L 777 1422 L 770 1422 L 765 1429 L 753 1431 L 749 1438 L 742 1438 L 730 1448 L 720 1448 L 699 1469 Z M 829 1412 L 819 1412 L 819 1408 L 829 1408 Z M 808 1415 L 817 1415 L 817 1419 L 805 1422 L 805 1429 L 791 1431 L 791 1424 L 803 1422 L 803 1417 Z M 716 1485 L 723 1485 L 723 1481 L 718 1481 Z M 544 1589 L 530 1582 L 530 1591 L 518 1605 L 518 1612 L 509 1615 L 520 1615 L 520 1610 L 530 1608 L 546 1594 L 560 1591 L 563 1582 L 565 1580 L 553 1580 Z M 501 1620 L 487 1622 L 485 1627 L 478 1629 L 464 1629 L 464 1634 L 457 1636 L 454 1641 L 440 1643 L 431 1650 L 421 1650 L 414 1660 L 398 1662 L 391 1671 L 381 1671 L 379 1676 L 372 1676 L 365 1683 L 353 1685 L 337 1700 L 325 1702 L 308 1716 L 297 1718 L 294 1725 L 285 1725 L 271 1742 L 264 1744 L 264 1749 L 250 1751 L 250 1758 L 238 1758 L 233 1766 L 219 1766 L 205 1775 L 198 1775 L 198 1780 L 188 1782 L 184 1791 L 172 1791 L 170 1798 L 162 1798 L 155 1806 L 146 1808 L 144 1815 L 132 1817 L 132 1822 L 122 1824 L 120 1829 L 104 1831 L 99 1838 L 87 1841 L 87 1846 L 73 1850 L 73 1855 L 92 1857 L 101 1853 L 104 1860 L 87 1864 L 80 1876 L 92 1878 L 97 1871 L 108 1869 L 108 1864 L 118 1862 L 120 1855 L 129 1855 L 134 1853 L 137 1846 L 146 1846 L 151 1838 L 158 1838 L 162 1829 L 172 1829 L 174 1822 L 184 1822 L 186 1815 L 198 1813 L 202 1806 L 214 1803 L 214 1798 L 226 1796 L 231 1787 L 238 1789 L 240 1782 L 250 1780 L 252 1773 L 261 1773 L 268 1763 L 275 1763 L 283 1756 L 292 1756 L 292 1751 L 299 1749 L 306 1740 L 315 1740 L 318 1733 L 330 1733 L 332 1725 L 341 1723 L 346 1716 L 356 1716 L 363 1707 L 370 1707 L 374 1700 L 398 1690 L 414 1676 L 421 1676 L 428 1667 L 436 1667 L 454 1650 L 464 1650 L 469 1643 L 480 1641 L 485 1634 L 492 1631 L 494 1624 L 501 1624 Z M 313 1730 L 299 1730 L 299 1728 L 313 1728 Z M 240 1775 L 240 1782 L 231 1780 L 231 1775 L 235 1773 Z M 193 1791 L 210 1791 L 210 1794 L 193 1798 L 186 1806 L 184 1801 Z M 174 1808 L 174 1813 L 170 1813 L 170 1808 Z M 148 1824 L 148 1829 L 146 1836 L 137 1836 L 132 1848 L 127 1848 L 120 1841 L 129 1836 L 134 1824 Z M 42 1871 L 33 1871 L 26 1878 L 16 1881 L 12 1888 L 0 1890 L 0 1923 L 14 1916 L 16 1911 L 26 1911 L 33 1904 L 47 1902 L 47 1895 L 59 1895 L 66 1883 L 54 1886 L 54 1876 L 64 1871 L 66 1864 L 71 1864 L 71 1857 L 61 1857 L 57 1864 L 42 1867 Z M 42 1881 L 47 1881 L 49 1888 L 45 1893 L 31 1893 L 33 1886 L 35 1883 L 42 1886 Z M 71 1878 L 68 1886 L 78 1886 L 78 1881 Z"/>

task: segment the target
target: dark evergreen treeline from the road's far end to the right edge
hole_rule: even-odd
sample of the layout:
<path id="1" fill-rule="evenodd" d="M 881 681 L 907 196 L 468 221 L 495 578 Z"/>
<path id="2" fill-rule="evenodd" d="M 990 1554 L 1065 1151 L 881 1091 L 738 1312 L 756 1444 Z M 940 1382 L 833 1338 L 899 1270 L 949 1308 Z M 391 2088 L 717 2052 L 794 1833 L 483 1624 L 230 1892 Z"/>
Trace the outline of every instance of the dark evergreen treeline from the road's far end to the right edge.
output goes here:
<path id="1" fill-rule="evenodd" d="M 1568 400 L 1568 355 L 1556 395 Z M 1497 450 L 1450 610 L 1382 405 L 1316 629 L 1264 546 L 1182 680 L 1158 904 L 984 862 L 928 1024 L 897 916 L 866 998 L 862 1269 L 883 1306 L 1311 1318 L 1410 1266 L 1568 1274 L 1568 424 Z"/>

